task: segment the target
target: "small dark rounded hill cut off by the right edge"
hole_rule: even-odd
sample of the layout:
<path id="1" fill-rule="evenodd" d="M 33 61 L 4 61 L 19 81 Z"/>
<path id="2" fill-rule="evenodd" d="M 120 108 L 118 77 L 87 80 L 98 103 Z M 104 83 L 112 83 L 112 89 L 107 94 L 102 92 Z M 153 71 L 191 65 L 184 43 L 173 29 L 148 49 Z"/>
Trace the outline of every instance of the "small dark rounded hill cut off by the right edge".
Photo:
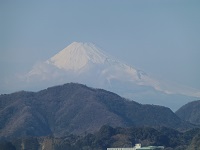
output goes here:
<path id="1" fill-rule="evenodd" d="M 176 114 L 185 121 L 200 125 L 200 100 L 185 104 Z"/>

